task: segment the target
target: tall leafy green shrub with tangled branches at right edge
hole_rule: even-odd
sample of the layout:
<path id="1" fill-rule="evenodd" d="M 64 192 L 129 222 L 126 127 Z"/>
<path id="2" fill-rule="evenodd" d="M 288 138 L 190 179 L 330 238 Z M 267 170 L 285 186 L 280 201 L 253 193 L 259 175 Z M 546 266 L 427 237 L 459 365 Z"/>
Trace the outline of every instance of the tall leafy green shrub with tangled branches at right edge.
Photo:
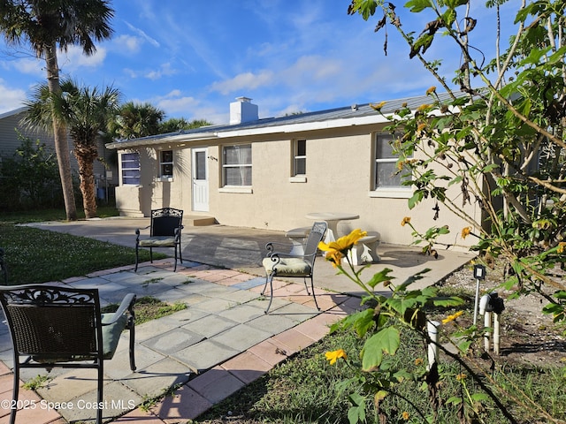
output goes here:
<path id="1" fill-rule="evenodd" d="M 551 302 L 546 311 L 566 320 L 566 284 L 555 271 L 566 262 L 566 1 L 488 2 L 483 16 L 492 14 L 498 25 L 493 57 L 477 47 L 486 32 L 476 34 L 479 10 L 469 1 L 410 0 L 405 8 L 353 0 L 348 11 L 363 19 L 381 11 L 377 30 L 397 30 L 408 56 L 451 96 L 441 101 L 430 87 L 430 102 L 417 112 L 405 107 L 387 116 L 391 130 L 403 134 L 395 148 L 415 187 L 409 207 L 432 199 L 462 216 L 469 224 L 463 237 L 476 239 L 486 261 L 509 263 L 507 286 L 541 292 Z M 406 27 L 408 13 L 428 22 Z M 508 41 L 501 39 L 502 20 L 515 24 Z M 440 42 L 442 49 L 431 49 Z M 461 57 L 452 84 L 443 57 L 432 51 Z M 461 195 L 448 195 L 450 186 Z M 470 202 L 482 214 L 470 216 Z"/>

